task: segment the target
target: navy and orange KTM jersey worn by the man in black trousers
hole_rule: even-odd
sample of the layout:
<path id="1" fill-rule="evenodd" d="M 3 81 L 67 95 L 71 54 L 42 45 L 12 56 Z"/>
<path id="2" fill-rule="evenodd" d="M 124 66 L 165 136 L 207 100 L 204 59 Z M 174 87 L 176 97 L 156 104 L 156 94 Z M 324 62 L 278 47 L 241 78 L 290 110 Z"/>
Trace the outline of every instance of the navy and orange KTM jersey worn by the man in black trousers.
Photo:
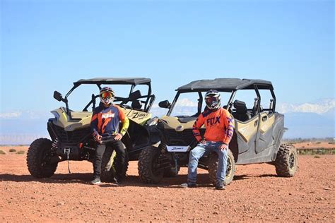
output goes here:
<path id="1" fill-rule="evenodd" d="M 122 121 L 121 131 L 119 131 L 119 121 Z M 124 114 L 124 111 L 114 104 L 110 107 L 100 104 L 93 111 L 92 119 L 90 120 L 90 128 L 93 135 L 108 136 L 116 133 L 124 135 L 127 132 L 128 126 L 129 119 Z"/>

